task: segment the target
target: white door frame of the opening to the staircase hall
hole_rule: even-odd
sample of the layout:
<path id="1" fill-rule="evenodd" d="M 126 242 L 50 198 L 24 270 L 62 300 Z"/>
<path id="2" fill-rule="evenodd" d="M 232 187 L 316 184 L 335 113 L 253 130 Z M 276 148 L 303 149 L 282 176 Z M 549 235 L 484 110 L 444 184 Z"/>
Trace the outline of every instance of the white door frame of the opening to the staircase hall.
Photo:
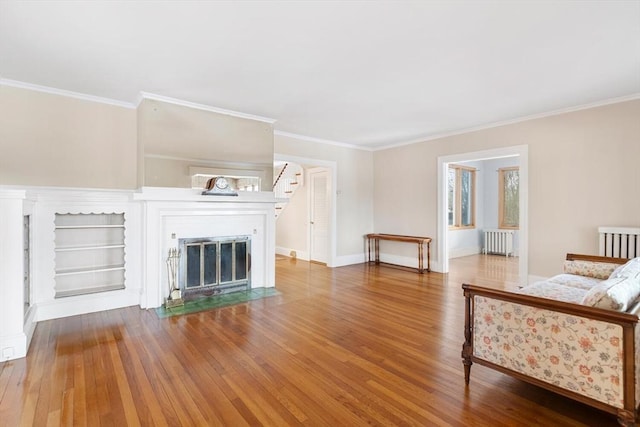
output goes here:
<path id="1" fill-rule="evenodd" d="M 290 156 L 288 154 L 278 154 L 274 153 L 273 155 L 274 161 L 281 162 L 293 162 L 297 163 L 304 168 L 313 168 L 313 167 L 322 167 L 326 168 L 328 171 L 328 179 L 327 179 L 327 191 L 329 193 L 329 224 L 328 224 L 328 232 L 327 232 L 327 249 L 329 253 L 327 254 L 327 267 L 335 267 L 336 266 L 336 183 L 338 182 L 337 177 L 337 163 L 330 160 L 318 160 L 307 157 L 298 157 L 298 156 Z M 306 173 L 306 171 L 305 171 Z M 307 224 L 308 226 L 308 224 Z M 307 232 L 305 230 L 305 232 Z M 310 254 L 311 242 L 307 242 L 307 253 Z"/>

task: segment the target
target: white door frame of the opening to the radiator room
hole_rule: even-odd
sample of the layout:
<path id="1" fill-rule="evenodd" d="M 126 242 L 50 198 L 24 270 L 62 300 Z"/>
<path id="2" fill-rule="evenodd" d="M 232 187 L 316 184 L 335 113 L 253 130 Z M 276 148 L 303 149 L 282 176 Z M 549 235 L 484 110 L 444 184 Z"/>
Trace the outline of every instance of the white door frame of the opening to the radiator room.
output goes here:
<path id="1" fill-rule="evenodd" d="M 529 276 L 529 146 L 516 145 L 470 153 L 438 157 L 438 241 L 437 256 L 441 273 L 449 272 L 449 225 L 447 222 L 447 169 L 449 163 L 470 162 L 518 156 L 520 162 L 520 233 L 518 244 L 519 281 L 526 285 Z"/>

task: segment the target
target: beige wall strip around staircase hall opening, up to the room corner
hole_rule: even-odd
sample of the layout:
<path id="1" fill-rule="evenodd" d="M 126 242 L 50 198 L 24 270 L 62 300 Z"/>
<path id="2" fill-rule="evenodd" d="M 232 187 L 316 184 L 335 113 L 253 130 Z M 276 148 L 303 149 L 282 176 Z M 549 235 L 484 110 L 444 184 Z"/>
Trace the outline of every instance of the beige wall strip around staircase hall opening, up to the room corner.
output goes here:
<path id="1" fill-rule="evenodd" d="M 372 152 L 278 134 L 275 135 L 275 152 L 336 163 L 336 255 L 345 257 L 344 262 L 360 259 L 364 253 L 363 236 L 373 230 Z M 342 263 L 338 259 L 338 264 Z"/>

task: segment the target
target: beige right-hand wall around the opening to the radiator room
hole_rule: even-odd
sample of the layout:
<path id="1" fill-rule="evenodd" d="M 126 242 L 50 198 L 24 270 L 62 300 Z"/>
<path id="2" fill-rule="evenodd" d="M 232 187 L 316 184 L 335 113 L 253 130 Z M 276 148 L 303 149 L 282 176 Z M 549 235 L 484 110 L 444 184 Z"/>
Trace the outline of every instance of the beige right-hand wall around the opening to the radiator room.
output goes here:
<path id="1" fill-rule="evenodd" d="M 639 118 L 635 100 L 376 151 L 375 231 L 435 237 L 438 156 L 525 144 L 529 274 L 556 274 L 598 226 L 640 226 Z"/>

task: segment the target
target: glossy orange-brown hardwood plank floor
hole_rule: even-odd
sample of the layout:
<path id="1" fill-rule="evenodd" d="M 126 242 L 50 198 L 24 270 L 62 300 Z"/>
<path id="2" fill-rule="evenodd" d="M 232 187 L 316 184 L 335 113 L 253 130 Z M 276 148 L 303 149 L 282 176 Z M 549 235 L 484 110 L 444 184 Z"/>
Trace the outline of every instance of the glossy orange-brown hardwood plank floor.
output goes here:
<path id="1" fill-rule="evenodd" d="M 511 286 L 517 260 L 459 258 L 448 275 L 276 269 L 282 295 L 233 307 L 41 322 L 27 357 L 0 363 L 0 425 L 616 424 L 478 365 L 465 387 L 460 285 Z"/>

